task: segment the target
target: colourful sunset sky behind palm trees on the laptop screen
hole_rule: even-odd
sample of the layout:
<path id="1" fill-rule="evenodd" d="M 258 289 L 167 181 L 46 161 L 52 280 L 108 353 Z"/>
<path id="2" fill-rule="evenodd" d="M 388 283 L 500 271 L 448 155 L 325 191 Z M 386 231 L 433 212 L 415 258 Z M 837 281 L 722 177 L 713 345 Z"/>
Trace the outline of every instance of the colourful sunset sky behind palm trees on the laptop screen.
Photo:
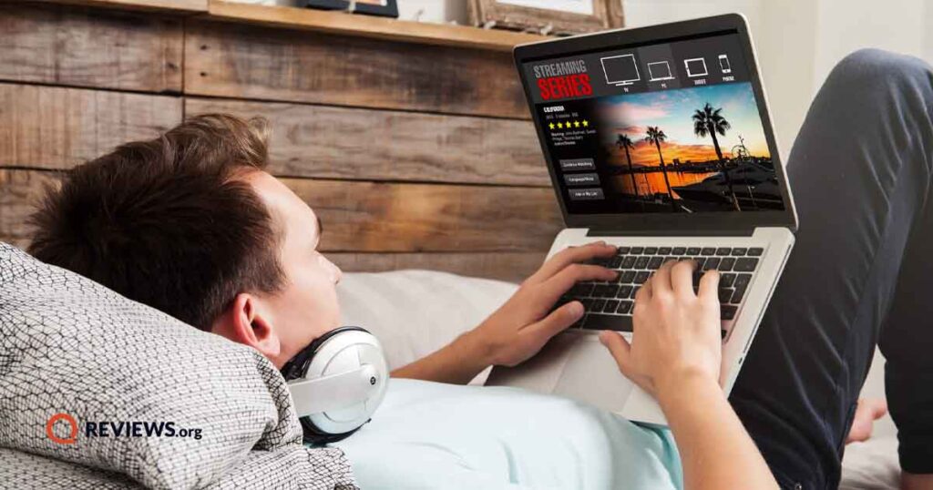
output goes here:
<path id="1" fill-rule="evenodd" d="M 749 83 L 607 97 L 597 107 L 600 138 L 604 145 L 613 148 L 613 163 L 627 163 L 624 152 L 617 149 L 615 142 L 617 134 L 628 133 L 635 144 L 634 150 L 630 150 L 632 163 L 657 165 L 658 150 L 644 138 L 648 126 L 658 126 L 667 134 L 667 142 L 661 144 L 665 163 L 671 163 L 675 158 L 680 161 L 713 160 L 716 150 L 713 149 L 712 138 L 695 135 L 691 119 L 693 112 L 707 102 L 714 108 L 722 107 L 722 116 L 731 124 L 725 136 L 717 134 L 724 156 L 731 155 L 731 147 L 739 144 L 740 134 L 753 156 L 770 156 Z"/>

